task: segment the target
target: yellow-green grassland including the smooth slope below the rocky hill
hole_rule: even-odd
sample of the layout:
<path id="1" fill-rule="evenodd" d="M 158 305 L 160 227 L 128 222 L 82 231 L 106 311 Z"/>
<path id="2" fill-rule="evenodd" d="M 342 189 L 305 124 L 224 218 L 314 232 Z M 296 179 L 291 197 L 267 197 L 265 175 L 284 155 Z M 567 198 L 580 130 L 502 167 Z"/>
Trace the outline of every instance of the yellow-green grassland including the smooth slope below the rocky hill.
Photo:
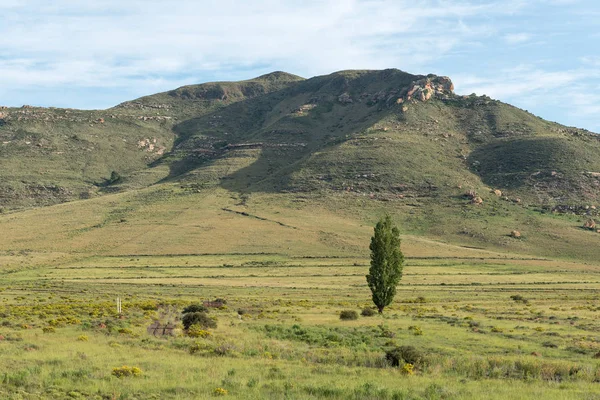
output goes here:
<path id="1" fill-rule="evenodd" d="M 0 397 L 599 399 L 597 234 L 577 216 L 452 201 L 164 184 L 0 215 Z M 396 301 L 342 321 L 371 306 L 383 210 L 403 231 Z M 146 332 L 216 298 L 205 337 Z M 414 369 L 390 366 L 407 345 Z"/>

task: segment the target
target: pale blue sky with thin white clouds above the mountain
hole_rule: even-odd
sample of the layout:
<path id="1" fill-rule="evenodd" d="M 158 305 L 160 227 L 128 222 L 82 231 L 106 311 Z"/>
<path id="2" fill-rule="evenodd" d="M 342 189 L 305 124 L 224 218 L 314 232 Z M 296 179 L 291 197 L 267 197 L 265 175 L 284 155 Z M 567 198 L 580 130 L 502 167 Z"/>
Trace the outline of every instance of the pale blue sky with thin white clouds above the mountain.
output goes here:
<path id="1" fill-rule="evenodd" d="M 0 0 L 0 105 L 398 68 L 600 132 L 597 0 Z"/>

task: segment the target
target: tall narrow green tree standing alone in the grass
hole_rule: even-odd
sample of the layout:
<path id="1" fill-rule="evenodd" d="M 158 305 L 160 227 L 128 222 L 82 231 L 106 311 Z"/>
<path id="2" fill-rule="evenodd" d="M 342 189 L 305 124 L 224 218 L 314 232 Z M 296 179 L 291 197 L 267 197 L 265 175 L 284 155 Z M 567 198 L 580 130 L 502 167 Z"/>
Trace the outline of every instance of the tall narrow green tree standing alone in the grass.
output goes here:
<path id="1" fill-rule="evenodd" d="M 404 256 L 400 251 L 400 232 L 392 226 L 389 215 L 381 218 L 375 225 L 375 233 L 371 237 L 371 268 L 367 275 L 367 283 L 373 293 L 373 303 L 379 313 L 390 305 L 396 295 L 396 286 L 402 278 Z"/>

